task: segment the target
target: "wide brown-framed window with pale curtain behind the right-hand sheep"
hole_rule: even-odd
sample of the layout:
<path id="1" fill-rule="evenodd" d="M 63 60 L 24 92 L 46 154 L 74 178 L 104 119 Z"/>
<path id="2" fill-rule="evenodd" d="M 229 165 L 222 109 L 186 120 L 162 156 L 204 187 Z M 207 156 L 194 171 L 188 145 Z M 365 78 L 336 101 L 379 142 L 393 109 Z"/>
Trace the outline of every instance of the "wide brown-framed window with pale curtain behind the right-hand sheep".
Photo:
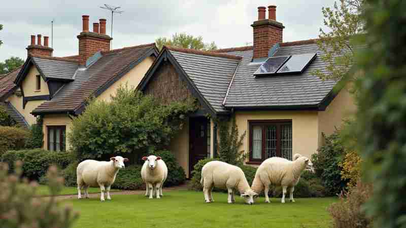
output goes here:
<path id="1" fill-rule="evenodd" d="M 292 122 L 250 121 L 250 161 L 276 156 L 292 160 Z"/>

